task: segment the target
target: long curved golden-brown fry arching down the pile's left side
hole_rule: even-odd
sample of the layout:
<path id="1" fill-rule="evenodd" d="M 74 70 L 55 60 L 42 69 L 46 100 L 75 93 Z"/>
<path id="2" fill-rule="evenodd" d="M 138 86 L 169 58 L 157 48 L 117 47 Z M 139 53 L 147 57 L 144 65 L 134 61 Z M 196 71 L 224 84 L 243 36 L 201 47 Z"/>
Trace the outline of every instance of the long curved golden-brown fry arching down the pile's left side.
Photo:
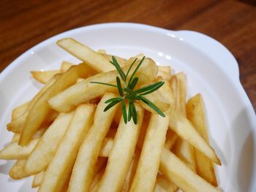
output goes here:
<path id="1" fill-rule="evenodd" d="M 48 113 L 51 111 L 50 106 L 46 101 L 57 93 L 63 91 L 65 88 L 74 84 L 79 77 L 88 77 L 89 74 L 86 69 L 86 64 L 72 66 L 67 72 L 61 74 L 61 77 L 53 82 L 53 85 L 42 93 L 42 96 L 39 97 L 34 106 L 31 107 L 31 110 L 29 110 L 29 115 L 26 118 L 25 126 L 21 132 L 19 145 L 26 145 L 26 143 L 29 142 L 34 132 L 37 131 Z"/>

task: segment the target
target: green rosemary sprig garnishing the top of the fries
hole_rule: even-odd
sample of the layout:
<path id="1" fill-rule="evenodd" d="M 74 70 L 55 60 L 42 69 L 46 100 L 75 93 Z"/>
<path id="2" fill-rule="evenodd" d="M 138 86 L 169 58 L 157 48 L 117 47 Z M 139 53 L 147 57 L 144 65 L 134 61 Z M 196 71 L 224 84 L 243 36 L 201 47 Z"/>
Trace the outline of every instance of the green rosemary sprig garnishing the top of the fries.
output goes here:
<path id="1" fill-rule="evenodd" d="M 119 102 L 121 102 L 121 110 L 123 112 L 124 123 L 129 122 L 131 119 L 135 124 L 138 123 L 138 115 L 135 107 L 136 100 L 143 101 L 145 104 L 148 105 L 148 107 L 151 107 L 152 110 L 157 112 L 162 117 L 165 117 L 165 114 L 161 110 L 159 110 L 159 108 L 157 108 L 156 105 L 154 105 L 151 101 L 149 101 L 144 97 L 149 93 L 153 93 L 154 91 L 157 91 L 159 88 L 162 87 L 162 85 L 164 85 L 165 82 L 162 82 L 162 81 L 154 82 L 151 85 L 147 85 L 143 88 L 138 88 L 138 90 L 134 91 L 134 88 L 137 85 L 139 80 L 139 78 L 135 77 L 135 75 L 138 69 L 140 68 L 141 64 L 143 64 L 144 59 L 145 57 L 143 57 L 140 60 L 140 63 L 138 64 L 138 66 L 136 66 L 135 70 L 132 72 L 131 77 L 129 78 L 129 81 L 127 82 L 127 77 L 129 75 L 129 72 L 132 69 L 132 66 L 137 61 L 137 58 L 132 62 L 131 66 L 129 66 L 127 74 L 125 74 L 124 71 L 121 69 L 121 66 L 118 64 L 118 61 L 116 60 L 116 58 L 114 56 L 112 57 L 112 61 L 110 61 L 110 63 L 116 67 L 116 70 L 120 75 L 121 80 L 123 80 L 124 82 L 124 85 L 125 85 L 124 88 L 121 87 L 121 80 L 119 77 L 116 77 L 116 85 L 106 83 L 106 82 L 91 82 L 91 83 L 97 83 L 101 85 L 112 86 L 118 89 L 118 93 L 120 96 L 116 98 L 111 98 L 105 101 L 105 103 L 108 105 L 107 107 L 105 107 L 104 112 L 109 110 L 111 107 L 115 106 Z M 128 102 L 128 115 L 127 115 L 127 108 L 126 108 L 126 99 Z"/>

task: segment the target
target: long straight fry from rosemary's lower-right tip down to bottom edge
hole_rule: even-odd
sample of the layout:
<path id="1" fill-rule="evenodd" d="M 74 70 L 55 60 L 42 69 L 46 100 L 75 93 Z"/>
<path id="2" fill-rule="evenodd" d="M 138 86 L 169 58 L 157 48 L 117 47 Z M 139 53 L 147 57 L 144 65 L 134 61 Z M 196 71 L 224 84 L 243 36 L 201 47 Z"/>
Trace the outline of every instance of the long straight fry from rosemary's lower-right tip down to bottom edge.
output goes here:
<path id="1" fill-rule="evenodd" d="M 168 111 L 165 118 L 161 115 L 151 115 L 130 191 L 154 191 L 169 120 Z M 151 171 L 148 172 L 148 169 Z"/>

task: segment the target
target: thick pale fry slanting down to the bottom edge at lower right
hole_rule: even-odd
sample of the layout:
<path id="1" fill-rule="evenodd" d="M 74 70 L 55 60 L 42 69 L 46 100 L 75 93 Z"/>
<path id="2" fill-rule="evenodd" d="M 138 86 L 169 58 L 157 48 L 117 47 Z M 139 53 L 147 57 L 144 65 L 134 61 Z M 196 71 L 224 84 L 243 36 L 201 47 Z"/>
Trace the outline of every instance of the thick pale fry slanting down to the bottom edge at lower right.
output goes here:
<path id="1" fill-rule="evenodd" d="M 195 174 L 195 172 L 189 169 L 189 167 L 177 158 L 176 155 L 167 149 L 162 151 L 159 170 L 168 178 L 168 180 L 171 180 L 183 191 L 219 191 L 219 189 Z"/>

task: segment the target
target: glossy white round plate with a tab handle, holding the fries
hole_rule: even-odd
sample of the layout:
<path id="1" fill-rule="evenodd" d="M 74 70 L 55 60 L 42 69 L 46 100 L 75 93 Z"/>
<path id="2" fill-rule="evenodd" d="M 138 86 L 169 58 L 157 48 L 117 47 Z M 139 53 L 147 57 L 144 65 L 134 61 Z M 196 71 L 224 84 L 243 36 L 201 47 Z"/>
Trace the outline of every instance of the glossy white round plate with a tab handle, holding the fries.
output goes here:
<path id="1" fill-rule="evenodd" d="M 94 50 L 129 56 L 145 53 L 175 72 L 187 74 L 188 97 L 202 93 L 211 144 L 222 160 L 217 177 L 223 191 L 256 191 L 255 112 L 238 78 L 238 64 L 219 42 L 194 31 L 168 31 L 133 23 L 108 23 L 77 28 L 32 47 L 0 76 L 0 147 L 10 141 L 6 130 L 12 108 L 29 100 L 42 85 L 29 71 L 59 69 L 61 61 L 78 62 L 56 41 L 73 37 Z M 33 191 L 31 178 L 11 180 L 9 161 L 0 161 L 1 191 Z"/>

